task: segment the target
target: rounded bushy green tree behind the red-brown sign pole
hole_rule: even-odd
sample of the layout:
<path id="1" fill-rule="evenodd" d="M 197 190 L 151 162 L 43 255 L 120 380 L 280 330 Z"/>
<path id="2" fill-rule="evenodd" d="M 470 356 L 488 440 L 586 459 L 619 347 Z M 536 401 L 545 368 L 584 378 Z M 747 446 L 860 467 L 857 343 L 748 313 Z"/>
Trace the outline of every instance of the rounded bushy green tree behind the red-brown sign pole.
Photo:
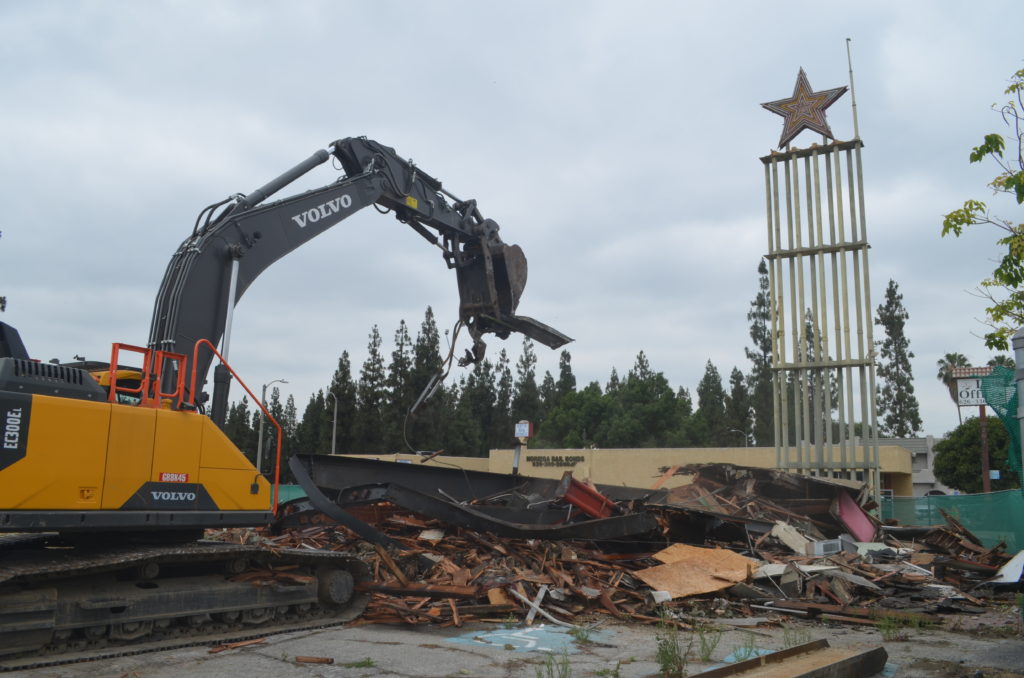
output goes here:
<path id="1" fill-rule="evenodd" d="M 1010 466 L 1010 435 L 998 417 L 986 417 L 988 428 L 988 467 L 999 471 L 999 479 L 991 481 L 992 490 L 1020 486 L 1017 473 Z M 981 420 L 969 417 L 935 443 L 935 477 L 950 488 L 966 493 L 982 491 Z"/>

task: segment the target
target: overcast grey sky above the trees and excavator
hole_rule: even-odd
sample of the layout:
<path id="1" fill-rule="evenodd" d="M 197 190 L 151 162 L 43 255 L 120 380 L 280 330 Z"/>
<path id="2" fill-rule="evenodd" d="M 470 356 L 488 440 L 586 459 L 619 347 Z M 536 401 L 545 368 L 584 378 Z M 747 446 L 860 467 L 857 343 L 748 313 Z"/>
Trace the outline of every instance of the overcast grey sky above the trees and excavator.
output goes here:
<path id="1" fill-rule="evenodd" d="M 899 284 L 925 432 L 942 435 L 956 412 L 936 361 L 991 356 L 969 290 L 998 250 L 993 231 L 940 238 L 941 219 L 989 199 L 996 168 L 968 154 L 1005 131 L 990 105 L 1024 67 L 1022 25 L 1019 0 L 6 0 L 0 320 L 42 359 L 144 344 L 200 209 L 366 135 L 475 198 L 523 248 L 519 312 L 575 339 L 581 386 L 603 386 L 642 349 L 692 392 L 708 359 L 723 379 L 749 368 L 767 251 L 759 158 L 782 124 L 760 103 L 790 96 L 801 67 L 815 90 L 849 84 L 851 38 L 872 304 Z M 849 95 L 828 122 L 853 136 Z M 324 166 L 299 187 L 336 176 Z M 373 325 L 389 354 L 398 322 L 415 334 L 427 305 L 452 326 L 455 274 L 365 210 L 250 288 L 231 363 L 256 391 L 287 379 L 301 413 L 342 350 L 357 373 Z M 514 359 L 521 340 L 488 344 Z M 557 352 L 538 354 L 540 375 L 557 373 Z"/>

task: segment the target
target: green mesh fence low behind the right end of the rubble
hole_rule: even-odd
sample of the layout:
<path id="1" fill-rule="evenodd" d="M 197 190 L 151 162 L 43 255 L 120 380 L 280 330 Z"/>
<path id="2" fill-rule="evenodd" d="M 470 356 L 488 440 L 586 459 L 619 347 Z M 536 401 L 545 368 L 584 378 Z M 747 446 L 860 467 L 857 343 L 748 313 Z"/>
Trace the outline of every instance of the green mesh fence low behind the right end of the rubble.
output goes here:
<path id="1" fill-rule="evenodd" d="M 986 547 L 1006 542 L 1009 553 L 1024 549 L 1024 493 L 893 497 L 882 501 L 882 518 L 901 525 L 944 525 L 942 509 L 970 529 Z"/>

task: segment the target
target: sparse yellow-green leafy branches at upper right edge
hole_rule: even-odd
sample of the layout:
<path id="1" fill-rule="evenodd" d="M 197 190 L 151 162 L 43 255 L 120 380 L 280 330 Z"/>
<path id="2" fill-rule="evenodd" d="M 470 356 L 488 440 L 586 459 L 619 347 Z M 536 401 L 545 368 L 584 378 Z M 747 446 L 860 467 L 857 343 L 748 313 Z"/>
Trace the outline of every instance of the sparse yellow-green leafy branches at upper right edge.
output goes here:
<path id="1" fill-rule="evenodd" d="M 971 151 L 972 163 L 994 161 L 999 173 L 989 183 L 996 195 L 1010 196 L 1017 205 L 1024 205 L 1024 69 L 1010 79 L 1004 92 L 1011 99 L 1006 104 L 993 107 L 1002 117 L 1016 138 L 1011 138 L 1011 149 L 1001 134 L 986 134 L 984 140 Z M 979 295 L 988 306 L 986 325 L 991 329 L 985 334 L 985 345 L 995 350 L 1007 350 L 1010 337 L 1024 325 L 1024 223 L 1016 223 L 992 214 L 988 205 L 968 200 L 964 207 L 946 214 L 942 221 L 942 235 L 963 235 L 967 226 L 989 225 L 1002 231 L 996 241 L 1004 255 L 992 276 L 981 281 Z"/>

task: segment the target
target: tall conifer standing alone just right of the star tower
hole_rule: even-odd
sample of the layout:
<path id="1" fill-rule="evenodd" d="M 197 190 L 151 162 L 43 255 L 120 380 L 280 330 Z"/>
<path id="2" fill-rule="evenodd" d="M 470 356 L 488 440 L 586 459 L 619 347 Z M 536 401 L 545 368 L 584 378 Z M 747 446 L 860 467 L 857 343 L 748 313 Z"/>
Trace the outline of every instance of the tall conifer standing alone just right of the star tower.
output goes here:
<path id="1" fill-rule="evenodd" d="M 879 418 L 882 435 L 896 438 L 911 437 L 921 430 L 921 413 L 913 394 L 913 373 L 910 340 L 906 336 L 906 321 L 910 314 L 903 306 L 903 295 L 896 281 L 890 280 L 886 300 L 879 304 L 874 324 L 882 326 L 886 338 L 877 341 L 881 347 L 878 363 Z"/>

